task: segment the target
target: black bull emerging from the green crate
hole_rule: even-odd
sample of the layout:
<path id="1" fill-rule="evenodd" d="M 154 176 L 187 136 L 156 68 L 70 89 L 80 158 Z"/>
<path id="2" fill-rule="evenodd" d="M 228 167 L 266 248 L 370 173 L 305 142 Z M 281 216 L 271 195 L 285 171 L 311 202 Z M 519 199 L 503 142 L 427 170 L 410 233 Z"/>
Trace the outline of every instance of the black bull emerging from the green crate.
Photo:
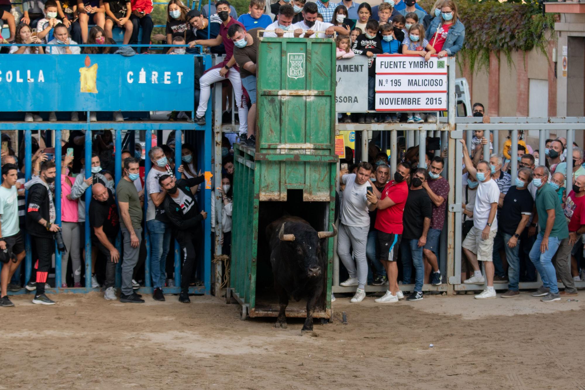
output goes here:
<path id="1" fill-rule="evenodd" d="M 280 307 L 276 327 L 287 327 L 285 310 L 292 296 L 297 302 L 307 298 L 307 320 L 302 331 L 313 330 L 313 313 L 325 283 L 326 253 L 322 253 L 321 240 L 335 234 L 335 225 L 333 232 L 317 232 L 306 220 L 294 216 L 279 218 L 266 227 Z"/>

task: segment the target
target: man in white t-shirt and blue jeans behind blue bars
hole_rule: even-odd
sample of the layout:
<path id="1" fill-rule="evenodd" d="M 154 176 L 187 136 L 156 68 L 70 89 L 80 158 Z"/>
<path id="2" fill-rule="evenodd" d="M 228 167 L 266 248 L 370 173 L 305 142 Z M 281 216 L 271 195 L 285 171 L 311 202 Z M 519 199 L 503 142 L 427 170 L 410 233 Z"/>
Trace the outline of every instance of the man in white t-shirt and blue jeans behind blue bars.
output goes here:
<path id="1" fill-rule="evenodd" d="M 148 196 L 146 227 L 150 237 L 150 274 L 154 288 L 152 296 L 154 301 L 164 301 L 162 288 L 166 276 L 167 254 L 171 244 L 171 229 L 164 215 L 164 209 L 161 208 L 161 203 L 167 193 L 160 187 L 159 178 L 162 175 L 173 176 L 173 171 L 161 147 L 155 146 L 150 149 L 148 157 L 152 161 L 152 168 L 148 172 L 144 187 Z"/>

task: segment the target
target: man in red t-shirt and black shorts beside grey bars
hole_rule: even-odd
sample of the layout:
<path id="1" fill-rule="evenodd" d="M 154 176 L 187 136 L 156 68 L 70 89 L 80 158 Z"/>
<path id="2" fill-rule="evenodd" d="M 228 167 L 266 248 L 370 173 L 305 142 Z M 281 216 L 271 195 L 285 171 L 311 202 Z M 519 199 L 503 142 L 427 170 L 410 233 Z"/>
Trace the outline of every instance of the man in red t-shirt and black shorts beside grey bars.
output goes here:
<path id="1" fill-rule="evenodd" d="M 410 164 L 400 163 L 394 172 L 394 180 L 386 184 L 380 199 L 368 194 L 370 203 L 376 204 L 376 225 L 378 234 L 378 256 L 388 275 L 388 291 L 377 303 L 398 302 L 402 292 L 398 289 L 398 247 L 402 235 L 402 213 L 408 198 L 406 179 L 410 175 Z"/>

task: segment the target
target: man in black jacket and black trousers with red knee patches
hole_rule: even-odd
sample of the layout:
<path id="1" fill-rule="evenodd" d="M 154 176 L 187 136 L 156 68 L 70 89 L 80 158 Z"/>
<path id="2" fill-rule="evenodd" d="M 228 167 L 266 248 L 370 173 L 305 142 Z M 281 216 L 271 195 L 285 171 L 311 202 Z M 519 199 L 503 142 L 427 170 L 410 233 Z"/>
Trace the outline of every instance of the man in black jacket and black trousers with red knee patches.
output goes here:
<path id="1" fill-rule="evenodd" d="M 32 236 L 33 259 L 37 258 L 36 293 L 33 303 L 37 305 L 54 305 L 44 294 L 44 284 L 47 282 L 51 256 L 55 251 L 54 233 L 60 230 L 55 225 L 56 211 L 53 202 L 53 193 L 49 185 L 55 181 L 56 170 L 53 161 L 43 161 L 40 165 L 40 176 L 25 184 L 29 190 L 26 205 L 26 230 Z M 36 256 L 35 256 L 36 254 Z"/>

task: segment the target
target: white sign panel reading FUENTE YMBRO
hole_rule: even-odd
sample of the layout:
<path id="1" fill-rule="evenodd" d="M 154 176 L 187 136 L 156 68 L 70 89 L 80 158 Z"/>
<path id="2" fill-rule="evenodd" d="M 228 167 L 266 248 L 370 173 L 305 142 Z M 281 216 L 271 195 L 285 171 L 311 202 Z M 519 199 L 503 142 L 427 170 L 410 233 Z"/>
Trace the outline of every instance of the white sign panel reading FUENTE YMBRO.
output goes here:
<path id="1" fill-rule="evenodd" d="M 424 57 L 402 54 L 378 54 L 376 56 L 376 74 L 447 74 L 446 58 Z"/>

